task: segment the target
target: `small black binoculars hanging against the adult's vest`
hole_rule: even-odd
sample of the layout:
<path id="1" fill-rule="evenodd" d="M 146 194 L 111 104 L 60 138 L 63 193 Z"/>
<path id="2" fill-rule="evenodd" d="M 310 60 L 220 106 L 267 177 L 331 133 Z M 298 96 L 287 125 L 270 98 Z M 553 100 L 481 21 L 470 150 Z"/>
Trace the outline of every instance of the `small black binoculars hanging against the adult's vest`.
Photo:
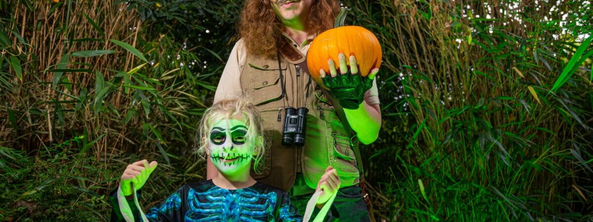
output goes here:
<path id="1" fill-rule="evenodd" d="M 304 146 L 305 130 L 307 129 L 307 112 L 305 107 L 286 107 L 284 123 L 282 124 L 283 146 Z"/>

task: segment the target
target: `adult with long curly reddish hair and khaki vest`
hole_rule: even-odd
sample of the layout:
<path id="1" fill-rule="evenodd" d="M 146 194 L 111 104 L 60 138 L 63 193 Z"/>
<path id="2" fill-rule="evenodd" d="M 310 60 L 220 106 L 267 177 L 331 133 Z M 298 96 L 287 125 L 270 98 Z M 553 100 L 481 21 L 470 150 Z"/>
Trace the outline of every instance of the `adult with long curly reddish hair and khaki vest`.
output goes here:
<path id="1" fill-rule="evenodd" d="M 358 107 L 342 108 L 331 91 L 311 81 L 306 54 L 317 34 L 333 28 L 340 11 L 336 0 L 246 0 L 238 25 L 237 41 L 222 72 L 214 102 L 246 96 L 262 112 L 264 130 L 271 141 L 263 156 L 261 172 L 253 178 L 291 195 L 299 212 L 315 191 L 327 166 L 340 176 L 334 206 L 340 221 L 369 221 L 368 196 L 363 195 L 362 162 L 358 141 L 369 144 L 378 137 L 381 112 L 375 81 L 361 81 L 353 90 L 364 92 Z M 353 55 L 340 53 L 339 66 L 329 60 L 330 73 L 323 78 L 356 73 Z M 336 69 L 336 66 L 339 69 Z M 371 70 L 371 80 L 378 69 Z M 286 108 L 308 109 L 304 146 L 282 144 Z M 208 163 L 207 178 L 216 176 Z M 362 187 L 361 187 L 362 186 Z"/>

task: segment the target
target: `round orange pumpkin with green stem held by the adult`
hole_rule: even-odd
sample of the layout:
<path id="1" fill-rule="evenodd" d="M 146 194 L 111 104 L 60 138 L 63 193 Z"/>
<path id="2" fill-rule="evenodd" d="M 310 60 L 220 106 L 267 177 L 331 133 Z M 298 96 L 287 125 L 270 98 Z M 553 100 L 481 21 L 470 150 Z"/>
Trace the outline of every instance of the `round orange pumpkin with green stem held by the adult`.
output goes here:
<path id="1" fill-rule="evenodd" d="M 336 21 L 336 27 L 324 31 L 319 36 L 315 37 L 309 52 L 307 53 L 307 67 L 311 78 L 321 88 L 327 89 L 321 82 L 320 69 L 323 69 L 327 75 L 330 73 L 327 60 L 332 59 L 339 69 L 340 63 L 338 54 L 344 53 L 346 55 L 346 63 L 350 66 L 350 56 L 356 57 L 356 65 L 358 65 L 359 74 L 365 77 L 372 69 L 381 66 L 381 45 L 379 40 L 371 31 L 360 26 L 342 26 L 345 12 L 340 12 Z M 339 73 L 339 70 L 338 70 Z"/>

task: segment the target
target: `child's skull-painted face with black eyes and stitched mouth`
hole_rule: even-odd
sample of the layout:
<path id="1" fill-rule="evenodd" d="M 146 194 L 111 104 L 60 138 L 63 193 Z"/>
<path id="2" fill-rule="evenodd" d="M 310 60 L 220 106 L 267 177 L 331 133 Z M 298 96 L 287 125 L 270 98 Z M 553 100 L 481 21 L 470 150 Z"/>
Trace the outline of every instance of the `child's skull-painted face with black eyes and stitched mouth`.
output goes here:
<path id="1" fill-rule="evenodd" d="M 219 172 L 237 175 L 249 170 L 253 158 L 253 144 L 246 138 L 247 126 L 243 121 L 224 119 L 210 129 L 208 147 L 210 159 Z"/>

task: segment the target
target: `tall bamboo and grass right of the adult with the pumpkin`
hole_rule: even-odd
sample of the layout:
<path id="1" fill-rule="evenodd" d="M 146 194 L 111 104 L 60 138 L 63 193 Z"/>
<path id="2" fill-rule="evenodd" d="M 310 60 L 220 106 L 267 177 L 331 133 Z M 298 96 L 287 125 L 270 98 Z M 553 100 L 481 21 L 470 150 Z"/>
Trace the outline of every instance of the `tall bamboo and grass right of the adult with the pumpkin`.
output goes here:
<path id="1" fill-rule="evenodd" d="M 366 153 L 381 218 L 592 220 L 590 3 L 346 5 L 385 52 L 391 138 Z"/>

